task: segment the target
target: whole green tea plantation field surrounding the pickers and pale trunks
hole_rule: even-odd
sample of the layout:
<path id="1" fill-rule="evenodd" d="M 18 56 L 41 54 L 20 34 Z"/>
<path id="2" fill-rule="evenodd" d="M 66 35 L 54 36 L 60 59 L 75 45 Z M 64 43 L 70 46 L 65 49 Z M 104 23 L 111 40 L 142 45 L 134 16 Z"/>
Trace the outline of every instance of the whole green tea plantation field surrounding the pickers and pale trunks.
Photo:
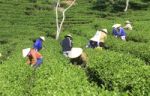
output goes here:
<path id="1" fill-rule="evenodd" d="M 57 1 L 57 0 L 56 0 Z M 150 1 L 76 0 L 66 12 L 55 40 L 55 0 L 0 0 L 0 96 L 150 96 Z M 61 4 L 61 7 L 66 7 Z M 61 20 L 61 12 L 59 19 Z M 127 41 L 112 36 L 112 25 L 126 20 Z M 109 49 L 85 48 L 97 28 L 107 28 Z M 74 47 L 88 55 L 86 68 L 61 53 L 60 41 L 71 33 Z M 22 49 L 45 36 L 43 64 L 26 64 Z"/>

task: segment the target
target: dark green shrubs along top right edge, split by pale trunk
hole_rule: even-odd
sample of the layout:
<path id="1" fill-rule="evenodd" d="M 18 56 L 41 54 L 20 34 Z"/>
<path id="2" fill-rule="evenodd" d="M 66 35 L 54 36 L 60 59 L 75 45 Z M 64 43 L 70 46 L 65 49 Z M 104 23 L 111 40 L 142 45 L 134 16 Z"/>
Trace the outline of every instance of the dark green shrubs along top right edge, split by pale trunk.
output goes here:
<path id="1" fill-rule="evenodd" d="M 146 1 L 144 1 L 146 2 Z M 110 11 L 110 12 L 122 12 L 126 6 L 126 0 L 96 0 L 93 1 L 94 9 L 99 11 Z M 142 1 L 129 1 L 129 9 L 141 10 L 147 9 L 149 7 L 148 3 L 143 3 Z"/>

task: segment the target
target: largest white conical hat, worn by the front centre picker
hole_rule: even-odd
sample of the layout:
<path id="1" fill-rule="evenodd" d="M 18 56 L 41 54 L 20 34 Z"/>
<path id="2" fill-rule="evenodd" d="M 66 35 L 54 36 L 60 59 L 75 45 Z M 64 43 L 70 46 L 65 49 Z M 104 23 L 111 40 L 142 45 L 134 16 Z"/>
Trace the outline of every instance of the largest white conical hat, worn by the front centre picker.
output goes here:
<path id="1" fill-rule="evenodd" d="M 83 52 L 82 48 L 72 48 L 68 54 L 68 57 L 69 58 L 77 58 L 82 54 L 82 52 Z"/>

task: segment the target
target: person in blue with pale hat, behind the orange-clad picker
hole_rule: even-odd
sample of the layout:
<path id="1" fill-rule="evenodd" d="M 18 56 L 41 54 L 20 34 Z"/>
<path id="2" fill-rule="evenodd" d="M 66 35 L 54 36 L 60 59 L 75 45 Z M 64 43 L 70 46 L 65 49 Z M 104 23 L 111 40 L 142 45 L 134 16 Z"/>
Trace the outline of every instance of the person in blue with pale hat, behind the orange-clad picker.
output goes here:
<path id="1" fill-rule="evenodd" d="M 33 48 L 36 51 L 40 51 L 42 49 L 43 41 L 45 41 L 45 37 L 44 36 L 40 36 L 40 38 L 36 39 L 36 41 L 34 42 Z"/>

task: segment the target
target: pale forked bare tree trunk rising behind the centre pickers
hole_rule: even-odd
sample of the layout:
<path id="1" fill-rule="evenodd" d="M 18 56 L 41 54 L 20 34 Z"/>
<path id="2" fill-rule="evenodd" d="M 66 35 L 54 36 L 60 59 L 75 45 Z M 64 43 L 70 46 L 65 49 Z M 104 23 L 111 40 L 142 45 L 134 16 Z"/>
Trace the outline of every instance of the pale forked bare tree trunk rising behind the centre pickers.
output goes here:
<path id="1" fill-rule="evenodd" d="M 63 18 L 62 18 L 62 20 L 61 20 L 61 22 L 60 22 L 60 24 L 59 24 L 58 8 L 60 7 L 60 0 L 57 0 L 57 5 L 56 5 L 56 26 L 57 26 L 56 40 L 58 40 L 58 38 L 59 38 L 59 35 L 60 35 L 60 33 L 61 33 L 61 29 L 62 29 L 63 23 L 64 23 L 64 21 L 65 21 L 65 12 L 66 12 L 69 8 L 72 7 L 72 5 L 75 3 L 75 1 L 76 1 L 76 0 L 72 0 L 71 4 L 70 4 L 67 8 L 65 8 L 65 9 L 62 11 L 62 16 L 63 16 Z"/>

